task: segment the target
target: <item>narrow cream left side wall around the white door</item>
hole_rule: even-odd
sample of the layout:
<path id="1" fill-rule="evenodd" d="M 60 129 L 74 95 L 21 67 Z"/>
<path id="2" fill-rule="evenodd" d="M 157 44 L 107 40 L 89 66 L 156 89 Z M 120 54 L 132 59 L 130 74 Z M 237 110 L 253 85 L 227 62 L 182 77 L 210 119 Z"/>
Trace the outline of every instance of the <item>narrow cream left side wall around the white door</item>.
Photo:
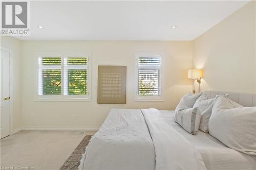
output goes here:
<path id="1" fill-rule="evenodd" d="M 22 48 L 21 41 L 9 36 L 1 36 L 1 46 L 13 52 L 13 124 L 15 130 L 21 126 L 21 90 L 22 90 Z"/>

